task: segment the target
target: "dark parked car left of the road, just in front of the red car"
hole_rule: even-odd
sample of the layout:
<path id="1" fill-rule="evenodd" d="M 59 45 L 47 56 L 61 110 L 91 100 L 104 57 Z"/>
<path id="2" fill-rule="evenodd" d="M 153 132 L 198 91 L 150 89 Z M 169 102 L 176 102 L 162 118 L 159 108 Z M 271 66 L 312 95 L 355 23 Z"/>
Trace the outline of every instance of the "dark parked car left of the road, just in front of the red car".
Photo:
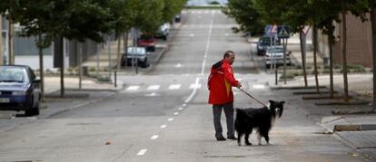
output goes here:
<path id="1" fill-rule="evenodd" d="M 137 63 L 137 64 L 136 64 Z M 145 47 L 128 47 L 127 51 L 122 56 L 122 66 L 131 66 L 132 64 L 141 66 L 143 68 L 149 67 L 149 53 L 146 52 Z"/>

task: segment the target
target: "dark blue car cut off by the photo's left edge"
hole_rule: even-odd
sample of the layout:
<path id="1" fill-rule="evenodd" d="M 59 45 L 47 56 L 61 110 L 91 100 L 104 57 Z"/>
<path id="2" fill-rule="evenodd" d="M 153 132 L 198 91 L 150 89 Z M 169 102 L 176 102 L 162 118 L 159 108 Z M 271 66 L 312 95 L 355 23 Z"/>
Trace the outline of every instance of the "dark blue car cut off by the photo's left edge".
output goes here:
<path id="1" fill-rule="evenodd" d="M 39 84 L 28 66 L 0 66 L 0 110 L 25 110 L 25 116 L 39 115 Z"/>

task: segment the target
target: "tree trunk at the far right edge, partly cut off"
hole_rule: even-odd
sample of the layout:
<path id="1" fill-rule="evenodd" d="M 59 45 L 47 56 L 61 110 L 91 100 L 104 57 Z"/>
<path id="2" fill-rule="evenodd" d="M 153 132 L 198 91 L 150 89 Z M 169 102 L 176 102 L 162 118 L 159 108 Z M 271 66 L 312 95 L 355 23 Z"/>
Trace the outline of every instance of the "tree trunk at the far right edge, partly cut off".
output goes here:
<path id="1" fill-rule="evenodd" d="M 373 69 L 373 112 L 376 112 L 376 8 L 371 7 L 372 69 Z"/>

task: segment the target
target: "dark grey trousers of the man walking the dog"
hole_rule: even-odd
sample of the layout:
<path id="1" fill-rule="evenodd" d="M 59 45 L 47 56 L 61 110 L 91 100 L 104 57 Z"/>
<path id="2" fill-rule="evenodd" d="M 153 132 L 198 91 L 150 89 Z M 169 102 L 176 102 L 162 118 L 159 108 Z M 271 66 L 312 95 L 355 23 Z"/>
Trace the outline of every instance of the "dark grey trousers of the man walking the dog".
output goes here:
<path id="1" fill-rule="evenodd" d="M 226 116 L 227 137 L 233 137 L 233 102 L 228 102 L 222 105 L 213 105 L 215 138 L 223 137 L 221 125 L 222 110 L 224 110 L 224 115 Z"/>

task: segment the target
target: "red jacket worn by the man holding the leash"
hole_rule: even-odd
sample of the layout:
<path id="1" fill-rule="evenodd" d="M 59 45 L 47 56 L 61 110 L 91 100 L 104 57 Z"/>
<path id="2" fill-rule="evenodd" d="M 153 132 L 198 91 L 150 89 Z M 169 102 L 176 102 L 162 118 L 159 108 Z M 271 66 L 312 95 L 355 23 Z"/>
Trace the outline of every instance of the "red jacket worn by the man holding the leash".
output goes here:
<path id="1" fill-rule="evenodd" d="M 238 86 L 239 81 L 233 77 L 233 67 L 230 62 L 223 59 L 212 66 L 208 78 L 209 103 L 224 104 L 233 102 L 233 87 Z"/>

